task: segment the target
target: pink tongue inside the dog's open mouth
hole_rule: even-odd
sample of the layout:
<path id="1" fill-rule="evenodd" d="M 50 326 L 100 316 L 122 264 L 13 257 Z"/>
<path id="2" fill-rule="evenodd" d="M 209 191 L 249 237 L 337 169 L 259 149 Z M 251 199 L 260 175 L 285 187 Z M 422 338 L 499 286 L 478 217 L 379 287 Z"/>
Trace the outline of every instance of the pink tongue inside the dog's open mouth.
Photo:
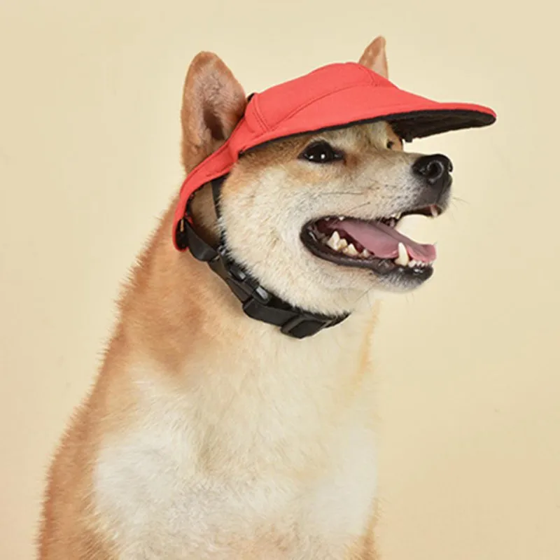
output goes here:
<path id="1" fill-rule="evenodd" d="M 367 251 L 379 258 L 398 257 L 398 244 L 400 242 L 405 245 L 410 258 L 413 260 L 420 260 L 421 262 L 435 260 L 435 246 L 416 243 L 381 222 L 366 223 L 346 219 L 337 222 L 336 229 L 346 232 L 360 245 L 367 248 Z"/>

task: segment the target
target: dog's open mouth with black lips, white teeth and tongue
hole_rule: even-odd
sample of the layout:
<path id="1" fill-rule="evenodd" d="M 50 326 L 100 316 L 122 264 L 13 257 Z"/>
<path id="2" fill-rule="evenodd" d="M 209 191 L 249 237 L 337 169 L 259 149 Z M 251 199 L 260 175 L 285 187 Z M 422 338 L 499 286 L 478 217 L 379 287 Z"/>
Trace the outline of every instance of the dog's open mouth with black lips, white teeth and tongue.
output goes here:
<path id="1" fill-rule="evenodd" d="M 303 244 L 318 258 L 346 267 L 371 269 L 377 274 L 400 273 L 419 280 L 433 273 L 435 246 L 416 243 L 398 231 L 404 216 L 420 214 L 435 218 L 437 204 L 393 214 L 373 221 L 350 216 L 329 216 L 304 226 Z"/>

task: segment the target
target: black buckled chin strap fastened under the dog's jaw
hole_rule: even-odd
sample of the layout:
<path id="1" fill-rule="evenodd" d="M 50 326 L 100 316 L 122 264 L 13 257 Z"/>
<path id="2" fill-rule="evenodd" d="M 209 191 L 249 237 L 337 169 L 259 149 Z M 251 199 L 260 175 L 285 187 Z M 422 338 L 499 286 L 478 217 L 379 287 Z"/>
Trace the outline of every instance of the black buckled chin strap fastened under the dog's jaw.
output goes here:
<path id="1" fill-rule="evenodd" d="M 225 176 L 212 181 L 212 193 L 216 214 L 220 217 L 220 193 Z M 179 222 L 176 231 L 179 247 L 189 248 L 197 260 L 207 262 L 209 267 L 228 284 L 230 290 L 243 304 L 246 315 L 258 321 L 280 327 L 284 335 L 305 338 L 315 335 L 323 328 L 332 327 L 348 316 L 326 316 L 303 311 L 281 300 L 263 288 L 258 281 L 249 276 L 240 265 L 228 256 L 223 235 L 217 248 L 207 244 L 186 217 Z"/>

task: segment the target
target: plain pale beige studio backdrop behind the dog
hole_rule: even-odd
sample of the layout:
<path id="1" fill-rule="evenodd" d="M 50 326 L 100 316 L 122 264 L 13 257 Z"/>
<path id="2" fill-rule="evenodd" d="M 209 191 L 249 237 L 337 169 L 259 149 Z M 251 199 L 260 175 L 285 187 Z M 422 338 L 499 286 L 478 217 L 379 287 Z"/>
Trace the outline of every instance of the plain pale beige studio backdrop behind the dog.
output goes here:
<path id="1" fill-rule="evenodd" d="M 0 1 L 0 558 L 33 557 L 43 475 L 113 300 L 181 182 L 186 67 L 247 92 L 388 40 L 391 78 L 498 124 L 416 142 L 461 199 L 431 283 L 377 332 L 387 560 L 560 558 L 553 2 Z M 521 4 L 519 5 L 521 6 Z"/>

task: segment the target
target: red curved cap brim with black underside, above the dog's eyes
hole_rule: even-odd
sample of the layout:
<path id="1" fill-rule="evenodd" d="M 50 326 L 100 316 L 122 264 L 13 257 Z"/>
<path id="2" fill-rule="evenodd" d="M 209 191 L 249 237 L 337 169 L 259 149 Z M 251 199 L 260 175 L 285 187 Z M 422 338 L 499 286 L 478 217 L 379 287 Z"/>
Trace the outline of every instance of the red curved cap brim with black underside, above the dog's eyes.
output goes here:
<path id="1" fill-rule="evenodd" d="M 315 99 L 244 151 L 274 140 L 379 120 L 390 123 L 402 139 L 412 141 L 453 130 L 485 127 L 496 121 L 496 113 L 476 104 L 438 103 L 397 87 L 358 85 Z"/>

